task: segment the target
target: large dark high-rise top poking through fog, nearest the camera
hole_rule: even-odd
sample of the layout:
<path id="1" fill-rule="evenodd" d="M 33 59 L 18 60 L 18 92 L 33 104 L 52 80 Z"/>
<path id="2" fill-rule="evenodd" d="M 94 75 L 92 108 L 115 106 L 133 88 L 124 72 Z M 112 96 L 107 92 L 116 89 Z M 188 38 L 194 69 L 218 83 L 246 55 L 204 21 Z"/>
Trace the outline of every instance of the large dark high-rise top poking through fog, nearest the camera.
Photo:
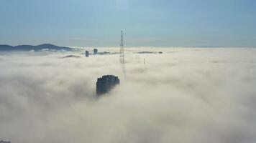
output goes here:
<path id="1" fill-rule="evenodd" d="M 97 95 L 106 94 L 109 92 L 116 84 L 120 84 L 118 77 L 113 75 L 105 75 L 98 78 L 96 83 L 96 93 Z"/>

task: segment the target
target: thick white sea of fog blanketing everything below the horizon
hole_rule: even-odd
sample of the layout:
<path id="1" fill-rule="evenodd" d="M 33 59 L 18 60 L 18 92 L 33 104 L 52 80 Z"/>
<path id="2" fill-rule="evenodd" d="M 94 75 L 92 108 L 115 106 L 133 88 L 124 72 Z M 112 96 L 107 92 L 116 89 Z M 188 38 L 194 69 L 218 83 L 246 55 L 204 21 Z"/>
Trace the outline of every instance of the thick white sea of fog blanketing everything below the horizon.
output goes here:
<path id="1" fill-rule="evenodd" d="M 70 54 L 81 58 L 62 58 Z M 126 76 L 119 54 L 0 54 L 0 140 L 256 141 L 256 49 L 129 48 L 125 61 Z M 96 97 L 96 80 L 105 74 L 121 84 Z"/>

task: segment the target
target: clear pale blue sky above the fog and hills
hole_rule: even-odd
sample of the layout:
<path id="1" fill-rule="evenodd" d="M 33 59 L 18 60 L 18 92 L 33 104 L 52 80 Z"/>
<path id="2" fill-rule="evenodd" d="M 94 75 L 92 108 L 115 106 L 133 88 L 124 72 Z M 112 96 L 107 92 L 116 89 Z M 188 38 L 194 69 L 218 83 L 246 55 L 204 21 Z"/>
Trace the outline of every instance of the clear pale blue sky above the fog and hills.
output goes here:
<path id="1" fill-rule="evenodd" d="M 255 0 L 0 0 L 0 44 L 256 46 Z"/>

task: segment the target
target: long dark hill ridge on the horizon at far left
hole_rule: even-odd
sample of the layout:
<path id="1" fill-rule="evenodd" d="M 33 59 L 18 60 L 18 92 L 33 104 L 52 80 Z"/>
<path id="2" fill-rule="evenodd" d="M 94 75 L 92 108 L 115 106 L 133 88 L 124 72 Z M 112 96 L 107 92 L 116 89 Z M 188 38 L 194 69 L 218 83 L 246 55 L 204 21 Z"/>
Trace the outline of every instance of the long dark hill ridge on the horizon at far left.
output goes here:
<path id="1" fill-rule="evenodd" d="M 72 51 L 72 48 L 65 46 L 55 46 L 53 44 L 40 44 L 37 46 L 32 45 L 18 45 L 18 46 L 9 46 L 9 45 L 0 45 L 0 51 L 43 51 L 43 50 L 51 50 L 51 51 Z"/>

